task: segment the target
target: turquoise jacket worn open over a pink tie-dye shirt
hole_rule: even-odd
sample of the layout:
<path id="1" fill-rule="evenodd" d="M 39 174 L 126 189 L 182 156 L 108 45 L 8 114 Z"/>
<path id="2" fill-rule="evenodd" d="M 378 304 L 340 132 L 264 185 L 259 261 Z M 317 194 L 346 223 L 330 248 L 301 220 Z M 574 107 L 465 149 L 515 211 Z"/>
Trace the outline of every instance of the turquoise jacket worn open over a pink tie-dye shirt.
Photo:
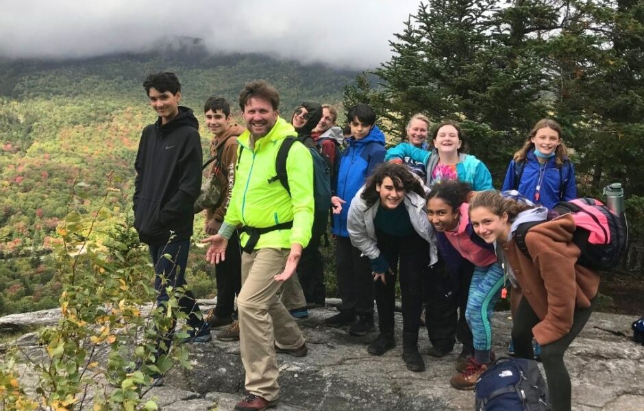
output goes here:
<path id="1" fill-rule="evenodd" d="M 438 164 L 438 150 L 425 151 L 407 142 L 403 142 L 396 147 L 388 149 L 385 160 L 404 160 L 405 158 L 410 158 L 411 160 L 425 164 L 425 169 L 427 169 L 425 185 L 431 187 L 434 184 L 432 181 L 432 173 L 436 164 Z M 458 155 L 456 173 L 458 173 L 458 180 L 471 184 L 472 190 L 474 191 L 493 190 L 494 188 L 492 186 L 492 175 L 490 171 L 481 160 L 475 158 L 473 155 L 464 153 Z"/>

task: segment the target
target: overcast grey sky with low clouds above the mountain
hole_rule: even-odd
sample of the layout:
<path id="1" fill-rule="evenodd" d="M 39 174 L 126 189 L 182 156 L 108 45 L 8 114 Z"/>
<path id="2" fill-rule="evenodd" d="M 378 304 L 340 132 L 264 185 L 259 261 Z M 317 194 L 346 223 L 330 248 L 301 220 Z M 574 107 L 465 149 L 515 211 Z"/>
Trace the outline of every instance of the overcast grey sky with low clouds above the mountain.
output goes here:
<path id="1" fill-rule="evenodd" d="M 0 0 L 0 55 L 86 57 L 176 36 L 214 52 L 368 69 L 420 0 Z"/>

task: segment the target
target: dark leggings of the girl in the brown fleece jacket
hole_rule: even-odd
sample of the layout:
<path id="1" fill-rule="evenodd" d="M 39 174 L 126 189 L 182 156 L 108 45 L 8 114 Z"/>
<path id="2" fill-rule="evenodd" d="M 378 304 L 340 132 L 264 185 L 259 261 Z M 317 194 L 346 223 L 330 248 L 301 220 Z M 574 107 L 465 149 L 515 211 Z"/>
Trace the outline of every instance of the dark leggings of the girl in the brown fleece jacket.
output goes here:
<path id="1" fill-rule="evenodd" d="M 571 409 L 570 375 L 566 369 L 563 357 L 570 343 L 582 331 L 595 307 L 595 297 L 591 299 L 591 306 L 575 308 L 573 325 L 570 331 L 562 338 L 541 346 L 541 361 L 545 370 L 548 383 L 549 401 L 552 411 L 569 411 Z M 525 298 L 519 301 L 517 313 L 512 319 L 512 342 L 515 345 L 515 354 L 520 358 L 534 359 L 532 353 L 532 327 L 541 320 L 530 307 Z"/>

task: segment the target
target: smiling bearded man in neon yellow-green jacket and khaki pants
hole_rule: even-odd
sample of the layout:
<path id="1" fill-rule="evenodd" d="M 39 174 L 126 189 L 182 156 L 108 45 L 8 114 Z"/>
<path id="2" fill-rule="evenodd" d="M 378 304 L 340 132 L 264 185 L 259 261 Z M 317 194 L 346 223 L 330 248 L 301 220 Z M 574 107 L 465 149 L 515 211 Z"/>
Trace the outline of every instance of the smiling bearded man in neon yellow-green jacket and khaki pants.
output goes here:
<path id="1" fill-rule="evenodd" d="M 249 395 L 235 406 L 238 411 L 264 410 L 277 401 L 275 352 L 301 357 L 308 351 L 301 330 L 276 293 L 295 273 L 311 238 L 313 160 L 308 149 L 295 142 L 286 160 L 291 195 L 273 179 L 277 150 L 284 138 L 296 134 L 280 118 L 279 103 L 277 90 L 263 80 L 250 82 L 242 90 L 239 105 L 247 131 L 237 139 L 240 147 L 230 206 L 219 233 L 203 240 L 210 242 L 206 259 L 217 263 L 225 259 L 227 238 L 243 225 L 240 240 L 245 252 L 237 306 Z"/>

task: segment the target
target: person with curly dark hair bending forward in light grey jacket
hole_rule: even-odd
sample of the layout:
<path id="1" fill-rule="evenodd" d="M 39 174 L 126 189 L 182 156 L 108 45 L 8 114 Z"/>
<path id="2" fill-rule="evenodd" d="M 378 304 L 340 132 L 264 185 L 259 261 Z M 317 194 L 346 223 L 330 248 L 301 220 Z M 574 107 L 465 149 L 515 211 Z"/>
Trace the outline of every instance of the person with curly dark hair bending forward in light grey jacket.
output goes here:
<path id="1" fill-rule="evenodd" d="M 354 197 L 347 228 L 351 243 L 371 262 L 380 334 L 367 351 L 381 356 L 395 347 L 394 306 L 400 273 L 403 359 L 411 371 L 425 371 L 418 352 L 423 269 L 437 260 L 432 227 L 425 216 L 425 189 L 400 164 L 380 164 Z"/>

